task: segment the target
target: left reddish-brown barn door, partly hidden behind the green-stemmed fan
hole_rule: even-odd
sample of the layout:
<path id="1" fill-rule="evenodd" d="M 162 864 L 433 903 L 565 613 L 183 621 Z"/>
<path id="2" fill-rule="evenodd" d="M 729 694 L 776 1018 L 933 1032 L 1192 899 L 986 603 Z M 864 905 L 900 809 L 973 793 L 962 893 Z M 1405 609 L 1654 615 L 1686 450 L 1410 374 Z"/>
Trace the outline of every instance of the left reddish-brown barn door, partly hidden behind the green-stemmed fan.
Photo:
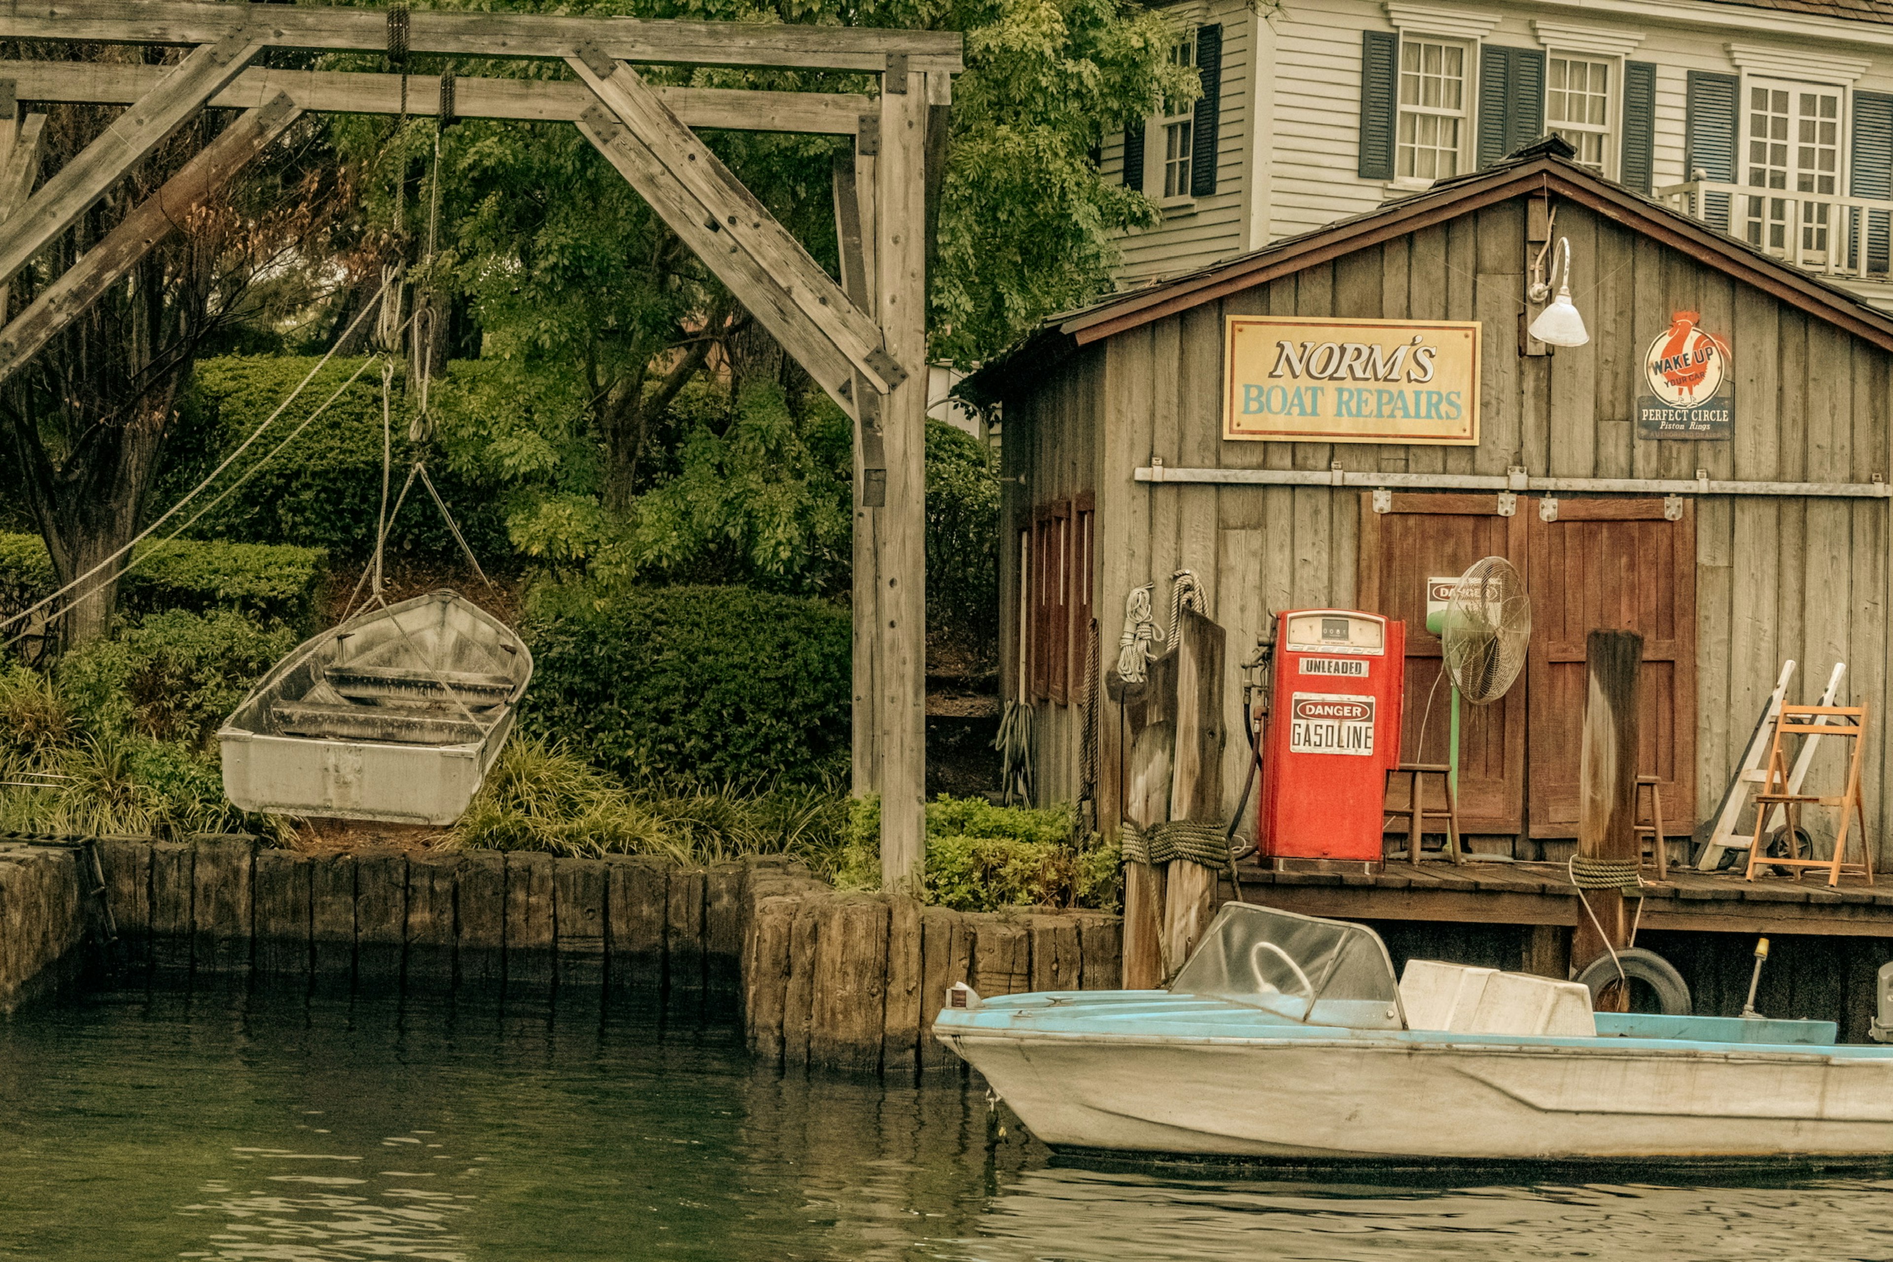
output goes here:
<path id="1" fill-rule="evenodd" d="M 1361 496 L 1357 602 L 1369 613 L 1406 622 L 1406 687 L 1401 759 L 1446 761 L 1448 683 L 1441 679 L 1439 638 L 1425 628 L 1427 579 L 1452 577 L 1482 556 L 1503 556 L 1526 571 L 1526 518 L 1518 500 L 1499 517 L 1497 496 L 1406 494 L 1374 513 Z M 1526 573 L 1530 583 L 1530 573 Z M 1435 689 L 1433 683 L 1439 681 Z M 1431 704 L 1429 704 L 1431 702 Z M 1460 827 L 1465 833 L 1518 834 L 1526 787 L 1524 681 L 1492 706 L 1460 710 Z M 1405 785 L 1389 808 L 1403 806 Z"/>

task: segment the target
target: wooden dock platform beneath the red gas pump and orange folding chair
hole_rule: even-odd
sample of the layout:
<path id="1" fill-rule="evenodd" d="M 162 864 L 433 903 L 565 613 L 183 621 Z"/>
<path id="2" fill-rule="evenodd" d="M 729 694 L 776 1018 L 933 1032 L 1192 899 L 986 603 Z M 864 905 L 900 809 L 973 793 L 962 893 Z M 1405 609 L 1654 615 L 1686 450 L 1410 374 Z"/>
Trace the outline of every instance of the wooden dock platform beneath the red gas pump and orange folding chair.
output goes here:
<path id="1" fill-rule="evenodd" d="M 1575 927 L 1583 908 L 1562 863 L 1450 863 L 1389 859 L 1376 876 L 1242 868 L 1249 903 L 1336 920 L 1418 920 L 1478 925 Z M 1893 938 L 1893 878 L 1829 889 L 1815 880 L 1670 870 L 1643 878 L 1641 929 L 1798 933 Z M 1225 880 L 1223 897 L 1230 895 Z"/>

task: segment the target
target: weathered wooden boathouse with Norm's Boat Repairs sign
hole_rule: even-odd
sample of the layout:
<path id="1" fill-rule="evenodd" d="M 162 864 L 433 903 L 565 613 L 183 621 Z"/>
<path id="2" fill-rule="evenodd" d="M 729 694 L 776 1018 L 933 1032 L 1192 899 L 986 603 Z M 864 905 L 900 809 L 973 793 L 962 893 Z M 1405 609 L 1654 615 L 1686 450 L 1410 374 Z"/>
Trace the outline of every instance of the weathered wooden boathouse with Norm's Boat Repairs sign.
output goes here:
<path id="1" fill-rule="evenodd" d="M 1255 872 L 1280 882 L 1285 906 L 1514 925 L 1545 965 L 1558 935 L 1543 929 L 1575 923 L 1562 872 L 1592 628 L 1643 636 L 1639 770 L 1658 778 L 1672 834 L 1706 833 L 1783 662 L 1798 664 L 1791 702 L 1813 702 L 1844 662 L 1842 698 L 1870 711 L 1868 846 L 1889 865 L 1893 316 L 1566 153 L 1545 140 L 1372 214 L 1113 295 L 973 378 L 1003 414 L 1005 696 L 1037 711 L 1041 798 L 1094 793 L 1100 827 L 1115 829 L 1121 719 L 1087 664 L 1100 675 L 1115 664 L 1140 585 L 1157 585 L 1168 624 L 1179 570 L 1227 630 L 1225 817 L 1249 757 L 1238 664 L 1282 609 L 1403 619 L 1403 757 L 1441 759 L 1427 581 L 1497 554 L 1526 577 L 1533 632 L 1511 692 L 1467 711 L 1461 815 L 1475 851 L 1514 865 L 1389 863 L 1346 882 Z M 1866 227 L 1868 248 L 1884 250 L 1885 225 Z M 1583 346 L 1526 331 L 1548 297 L 1531 282 L 1556 280 L 1562 238 Z M 1346 405 L 1297 416 L 1297 392 L 1268 384 L 1266 356 L 1249 384 L 1225 359 L 1257 316 L 1333 325 L 1338 344 L 1350 324 L 1473 325 L 1460 414 L 1448 420 L 1444 397 L 1389 407 L 1410 392 L 1380 388 L 1386 375 L 1350 384 L 1372 373 L 1331 356 L 1325 380 Z M 1310 339 L 1302 350 L 1318 354 Z M 1666 346 L 1713 346 L 1723 361 L 1721 382 L 1692 382 L 1719 405 L 1692 412 L 1707 416 L 1694 433 L 1670 428 L 1668 395 L 1653 397 L 1666 384 L 1653 375 L 1675 361 Z M 1293 378 L 1293 363 L 1272 367 Z M 1893 884 L 1812 893 L 1738 876 L 1679 876 L 1647 927 L 1893 938 Z M 1776 884 L 1787 889 L 1770 893 Z M 1872 954 L 1884 957 L 1880 944 Z"/>

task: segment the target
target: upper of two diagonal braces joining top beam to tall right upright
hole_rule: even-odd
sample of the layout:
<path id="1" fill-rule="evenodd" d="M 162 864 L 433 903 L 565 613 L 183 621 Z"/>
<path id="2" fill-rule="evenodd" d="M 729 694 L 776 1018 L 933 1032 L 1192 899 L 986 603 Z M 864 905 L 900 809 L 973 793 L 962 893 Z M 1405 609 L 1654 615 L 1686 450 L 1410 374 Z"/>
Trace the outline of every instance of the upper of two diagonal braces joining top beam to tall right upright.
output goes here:
<path id="1" fill-rule="evenodd" d="M 691 129 L 678 121 L 636 70 L 604 57 L 596 47 L 585 49 L 581 57 L 570 57 L 568 64 L 596 93 L 598 102 L 628 129 L 634 142 L 649 151 L 668 176 L 668 184 L 676 185 L 666 201 L 681 195 L 697 208 L 697 225 L 716 237 L 708 250 L 699 250 L 704 263 L 716 269 L 719 261 L 748 257 L 770 288 L 780 289 L 793 310 L 801 312 L 803 324 L 808 325 L 801 341 L 820 339 L 833 344 L 878 394 L 888 394 L 907 378 L 907 369 L 882 350 L 880 327 L 873 316 L 848 301 L 803 244 L 776 223 L 769 208 Z M 649 180 L 647 174 L 646 182 Z M 632 184 L 638 185 L 638 180 Z M 642 185 L 638 191 L 651 201 L 651 193 Z M 655 201 L 651 204 L 657 206 Z M 676 223 L 672 229 L 683 235 Z M 759 312 L 752 308 L 752 314 Z M 784 341 L 784 346 L 789 342 Z M 852 388 L 846 394 L 852 394 Z"/>

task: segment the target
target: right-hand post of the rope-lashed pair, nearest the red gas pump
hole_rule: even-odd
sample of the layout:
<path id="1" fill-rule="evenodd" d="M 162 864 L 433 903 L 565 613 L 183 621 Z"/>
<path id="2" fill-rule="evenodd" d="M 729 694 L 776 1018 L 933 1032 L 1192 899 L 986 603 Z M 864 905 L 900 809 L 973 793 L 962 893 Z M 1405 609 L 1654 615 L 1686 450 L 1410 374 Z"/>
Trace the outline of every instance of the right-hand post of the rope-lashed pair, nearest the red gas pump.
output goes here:
<path id="1" fill-rule="evenodd" d="M 1223 812 L 1223 628 L 1183 609 L 1177 640 L 1176 753 L 1170 770 L 1170 819 L 1219 821 Z M 1183 967 L 1215 914 L 1219 868 L 1189 859 L 1170 863 L 1164 878 L 1164 963 Z M 1166 982 L 1170 978 L 1164 978 Z"/>

